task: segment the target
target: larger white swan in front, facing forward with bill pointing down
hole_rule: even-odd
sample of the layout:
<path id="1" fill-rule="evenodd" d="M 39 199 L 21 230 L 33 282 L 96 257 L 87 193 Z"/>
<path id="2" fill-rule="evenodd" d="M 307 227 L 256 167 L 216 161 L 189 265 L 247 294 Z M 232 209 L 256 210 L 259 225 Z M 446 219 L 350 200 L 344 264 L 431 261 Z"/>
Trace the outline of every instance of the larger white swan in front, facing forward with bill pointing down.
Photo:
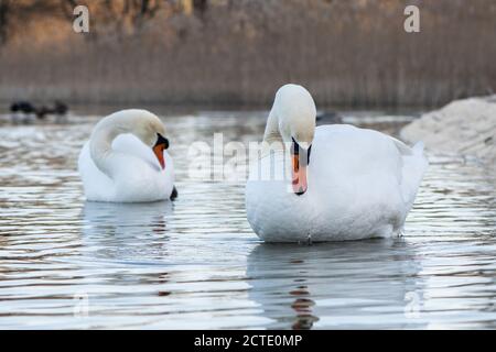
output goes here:
<path id="1" fill-rule="evenodd" d="M 315 129 L 315 114 L 305 88 L 277 92 L 246 186 L 254 231 L 266 242 L 400 234 L 428 166 L 423 144 L 352 125 Z"/>

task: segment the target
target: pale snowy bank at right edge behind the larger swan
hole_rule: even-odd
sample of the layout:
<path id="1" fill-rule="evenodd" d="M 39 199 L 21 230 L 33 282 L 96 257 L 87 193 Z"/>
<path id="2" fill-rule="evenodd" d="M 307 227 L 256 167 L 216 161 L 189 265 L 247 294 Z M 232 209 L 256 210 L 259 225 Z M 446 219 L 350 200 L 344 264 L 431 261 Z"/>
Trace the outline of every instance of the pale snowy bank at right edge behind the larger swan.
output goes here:
<path id="1" fill-rule="evenodd" d="M 452 101 L 405 127 L 401 138 L 423 141 L 434 153 L 475 156 L 496 169 L 496 95 Z"/>

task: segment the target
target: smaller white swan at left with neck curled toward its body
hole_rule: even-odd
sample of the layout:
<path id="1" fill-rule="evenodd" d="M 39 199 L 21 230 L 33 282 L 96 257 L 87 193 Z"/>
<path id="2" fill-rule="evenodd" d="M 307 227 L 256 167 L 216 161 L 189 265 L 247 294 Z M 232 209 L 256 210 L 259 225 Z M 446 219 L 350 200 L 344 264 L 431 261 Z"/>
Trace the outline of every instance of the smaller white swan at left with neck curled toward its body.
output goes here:
<path id="1" fill-rule="evenodd" d="M 143 202 L 176 196 L 169 141 L 158 117 L 123 110 L 97 123 L 78 169 L 90 201 Z"/>

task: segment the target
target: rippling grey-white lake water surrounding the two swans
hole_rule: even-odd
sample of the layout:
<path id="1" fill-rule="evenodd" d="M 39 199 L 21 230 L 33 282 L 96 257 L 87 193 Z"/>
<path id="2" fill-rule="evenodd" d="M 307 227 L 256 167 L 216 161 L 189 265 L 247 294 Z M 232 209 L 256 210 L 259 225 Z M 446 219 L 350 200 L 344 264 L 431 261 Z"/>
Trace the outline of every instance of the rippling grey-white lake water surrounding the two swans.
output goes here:
<path id="1" fill-rule="evenodd" d="M 149 205 L 85 204 L 95 121 L 0 127 L 0 328 L 496 328 L 496 190 L 475 161 L 430 155 L 403 238 L 268 245 L 242 183 L 187 177 L 191 142 L 258 141 L 263 116 L 164 119 L 180 197 Z"/>

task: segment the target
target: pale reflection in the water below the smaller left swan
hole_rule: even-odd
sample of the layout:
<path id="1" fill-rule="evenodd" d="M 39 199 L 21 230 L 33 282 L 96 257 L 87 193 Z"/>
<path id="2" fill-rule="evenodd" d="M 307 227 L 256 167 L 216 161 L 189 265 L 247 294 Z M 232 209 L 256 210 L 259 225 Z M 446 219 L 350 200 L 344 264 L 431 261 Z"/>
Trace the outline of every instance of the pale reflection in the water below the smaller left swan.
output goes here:
<path id="1" fill-rule="evenodd" d="M 83 209 L 85 248 L 100 260 L 161 260 L 168 254 L 166 218 L 172 208 L 170 201 L 87 201 Z"/>

